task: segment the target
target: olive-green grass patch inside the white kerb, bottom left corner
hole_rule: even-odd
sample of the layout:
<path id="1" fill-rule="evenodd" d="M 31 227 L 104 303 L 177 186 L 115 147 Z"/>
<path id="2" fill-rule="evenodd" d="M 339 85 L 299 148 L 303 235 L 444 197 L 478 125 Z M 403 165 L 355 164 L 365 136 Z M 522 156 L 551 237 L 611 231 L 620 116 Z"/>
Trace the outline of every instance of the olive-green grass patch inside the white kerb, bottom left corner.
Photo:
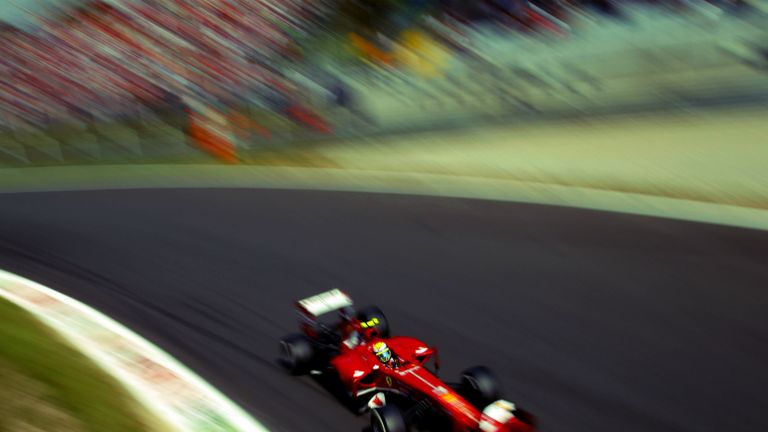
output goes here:
<path id="1" fill-rule="evenodd" d="M 2 432 L 156 430 L 115 379 L 1 298 L 0 383 Z"/>

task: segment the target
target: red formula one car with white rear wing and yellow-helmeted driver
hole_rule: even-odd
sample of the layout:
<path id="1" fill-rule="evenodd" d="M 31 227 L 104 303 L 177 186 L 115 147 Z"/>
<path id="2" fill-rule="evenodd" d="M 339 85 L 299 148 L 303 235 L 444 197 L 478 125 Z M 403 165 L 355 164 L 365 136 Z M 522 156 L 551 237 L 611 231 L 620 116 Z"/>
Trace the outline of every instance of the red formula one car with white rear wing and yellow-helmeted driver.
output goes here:
<path id="1" fill-rule="evenodd" d="M 529 413 L 500 399 L 499 382 L 487 368 L 465 370 L 458 383 L 440 380 L 437 348 L 390 336 L 379 308 L 356 310 L 338 289 L 296 307 L 302 332 L 280 341 L 280 362 L 294 375 L 333 377 L 351 406 L 370 411 L 373 432 L 534 430 Z"/>

